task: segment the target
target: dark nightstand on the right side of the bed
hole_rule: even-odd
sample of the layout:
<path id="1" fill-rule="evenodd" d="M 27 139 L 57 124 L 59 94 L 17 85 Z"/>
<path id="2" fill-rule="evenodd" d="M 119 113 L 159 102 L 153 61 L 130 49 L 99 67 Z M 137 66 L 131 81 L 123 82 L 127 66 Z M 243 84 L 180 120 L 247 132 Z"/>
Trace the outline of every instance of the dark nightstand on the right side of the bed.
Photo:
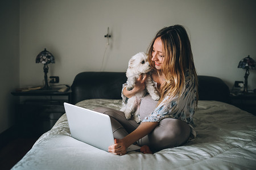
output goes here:
<path id="1" fill-rule="evenodd" d="M 230 95 L 231 104 L 256 116 L 256 94 Z"/>

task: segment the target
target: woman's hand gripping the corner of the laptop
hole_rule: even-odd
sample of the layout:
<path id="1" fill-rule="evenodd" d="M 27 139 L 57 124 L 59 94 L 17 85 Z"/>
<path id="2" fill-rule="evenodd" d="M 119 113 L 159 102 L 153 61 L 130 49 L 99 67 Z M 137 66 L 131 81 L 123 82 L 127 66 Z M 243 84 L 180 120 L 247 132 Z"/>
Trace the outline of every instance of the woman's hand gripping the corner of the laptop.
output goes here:
<path id="1" fill-rule="evenodd" d="M 115 155 L 125 155 L 127 153 L 125 143 L 122 139 L 114 139 L 115 144 L 109 146 L 109 152 Z"/>

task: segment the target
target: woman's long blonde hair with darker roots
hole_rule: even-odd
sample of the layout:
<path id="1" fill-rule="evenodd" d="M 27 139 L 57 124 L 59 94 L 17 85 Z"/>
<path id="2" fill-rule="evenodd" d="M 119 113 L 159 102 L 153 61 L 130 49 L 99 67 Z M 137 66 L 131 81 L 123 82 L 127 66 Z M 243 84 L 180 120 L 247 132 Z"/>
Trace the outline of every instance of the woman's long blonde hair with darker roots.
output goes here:
<path id="1" fill-rule="evenodd" d="M 160 104 L 166 96 L 168 96 L 169 99 L 176 95 L 180 97 L 185 88 L 185 73 L 187 70 L 189 74 L 193 75 L 195 78 L 196 88 L 198 86 L 191 44 L 185 28 L 181 25 L 173 25 L 164 27 L 156 33 L 155 38 L 152 40 L 147 50 L 148 61 L 155 71 L 158 70 L 155 69 L 155 63 L 151 58 L 154 42 L 159 37 L 163 44 L 164 60 L 161 71 L 164 75 L 165 82 L 160 87 L 161 97 L 158 104 Z M 196 99 L 198 100 L 198 92 L 196 95 Z"/>

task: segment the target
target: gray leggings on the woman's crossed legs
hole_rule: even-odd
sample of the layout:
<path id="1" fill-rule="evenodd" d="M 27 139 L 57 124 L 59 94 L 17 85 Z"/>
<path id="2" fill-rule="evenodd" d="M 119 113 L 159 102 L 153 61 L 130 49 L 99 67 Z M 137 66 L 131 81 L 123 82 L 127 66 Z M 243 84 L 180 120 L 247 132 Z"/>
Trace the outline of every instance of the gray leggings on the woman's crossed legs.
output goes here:
<path id="1" fill-rule="evenodd" d="M 145 99 L 149 99 L 149 97 L 146 97 Z M 147 101 L 148 100 L 146 100 L 146 102 L 142 101 L 140 115 L 143 108 L 145 108 L 143 110 L 148 110 L 150 105 L 146 104 L 145 107 L 143 105 L 148 103 Z M 110 116 L 114 138 L 122 139 L 139 126 L 139 124 L 134 121 L 133 117 L 131 117 L 130 120 L 127 120 L 125 118 L 125 113 L 121 111 L 105 107 L 96 108 L 94 111 L 108 114 Z M 142 115 L 141 118 L 143 119 Z M 190 133 L 191 129 L 187 123 L 175 118 L 164 118 L 159 122 L 159 125 L 151 131 L 150 134 L 139 139 L 137 143 L 140 146 L 149 146 L 152 151 L 159 151 L 164 148 L 183 145 L 188 141 Z"/>

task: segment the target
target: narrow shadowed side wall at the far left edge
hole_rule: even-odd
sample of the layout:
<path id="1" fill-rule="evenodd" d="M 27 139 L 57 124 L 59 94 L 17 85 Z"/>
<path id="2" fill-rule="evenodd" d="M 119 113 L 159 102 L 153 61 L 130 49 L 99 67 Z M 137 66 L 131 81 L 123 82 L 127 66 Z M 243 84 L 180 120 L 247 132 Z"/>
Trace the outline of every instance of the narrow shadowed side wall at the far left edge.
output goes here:
<path id="1" fill-rule="evenodd" d="M 19 1 L 0 1 L 0 133 L 14 125 L 11 91 L 19 86 Z"/>

